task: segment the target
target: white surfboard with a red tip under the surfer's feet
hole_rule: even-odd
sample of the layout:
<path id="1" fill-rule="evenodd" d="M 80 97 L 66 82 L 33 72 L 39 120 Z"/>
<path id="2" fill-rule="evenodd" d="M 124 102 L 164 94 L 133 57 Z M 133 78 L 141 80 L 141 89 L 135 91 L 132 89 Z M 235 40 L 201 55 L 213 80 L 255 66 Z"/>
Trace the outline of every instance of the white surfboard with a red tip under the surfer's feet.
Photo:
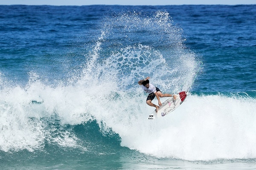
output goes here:
<path id="1" fill-rule="evenodd" d="M 151 115 L 148 116 L 149 120 L 153 120 L 156 118 L 161 118 L 165 115 L 168 115 L 170 112 L 174 111 L 177 107 L 180 106 L 180 104 L 183 103 L 183 101 L 186 98 L 186 92 L 179 92 L 179 94 L 176 94 L 176 100 L 173 99 L 173 97 L 167 99 L 162 103 L 162 106 L 158 109 L 158 112 L 154 110 Z"/>

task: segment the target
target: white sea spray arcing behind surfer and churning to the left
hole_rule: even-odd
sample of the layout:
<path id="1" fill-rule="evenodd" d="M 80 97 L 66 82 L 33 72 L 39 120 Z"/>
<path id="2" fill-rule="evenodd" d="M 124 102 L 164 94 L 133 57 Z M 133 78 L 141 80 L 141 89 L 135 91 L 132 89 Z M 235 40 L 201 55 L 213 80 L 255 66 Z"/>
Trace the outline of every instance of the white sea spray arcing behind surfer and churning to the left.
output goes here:
<path id="1" fill-rule="evenodd" d="M 136 133 L 130 132 L 148 133 L 152 127 L 144 118 L 151 108 L 145 104 L 137 81 L 150 76 L 163 92 L 178 92 L 187 88 L 183 81 L 192 80 L 196 67 L 195 54 L 186 53 L 183 45 L 179 46 L 183 41 L 181 29 L 173 26 L 168 17 L 167 12 L 157 12 L 153 17 L 128 13 L 108 18 L 91 52 L 84 54 L 87 62 L 81 75 L 70 74 L 73 77 L 67 79 L 70 84 L 45 84 L 36 72 L 28 73 L 29 81 L 24 87 L 7 87 L 8 82 L 4 82 L 1 150 L 32 151 L 44 148 L 46 143 L 78 147 L 76 134 L 65 127 L 91 120 L 96 120 L 103 133 L 120 133 L 122 141 L 126 136 L 122 130 L 128 138 L 137 138 Z M 142 32 L 149 34 L 143 37 Z M 158 41 L 166 42 L 164 52 L 150 41 L 158 36 Z"/>

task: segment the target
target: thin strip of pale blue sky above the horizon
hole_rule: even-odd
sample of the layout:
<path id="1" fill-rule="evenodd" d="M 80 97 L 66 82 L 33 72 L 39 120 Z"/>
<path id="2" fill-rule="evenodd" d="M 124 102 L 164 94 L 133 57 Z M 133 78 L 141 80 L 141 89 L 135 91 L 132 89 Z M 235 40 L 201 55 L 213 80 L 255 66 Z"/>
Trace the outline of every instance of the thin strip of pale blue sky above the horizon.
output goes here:
<path id="1" fill-rule="evenodd" d="M 256 0 L 0 0 L 0 5 L 240 5 Z"/>

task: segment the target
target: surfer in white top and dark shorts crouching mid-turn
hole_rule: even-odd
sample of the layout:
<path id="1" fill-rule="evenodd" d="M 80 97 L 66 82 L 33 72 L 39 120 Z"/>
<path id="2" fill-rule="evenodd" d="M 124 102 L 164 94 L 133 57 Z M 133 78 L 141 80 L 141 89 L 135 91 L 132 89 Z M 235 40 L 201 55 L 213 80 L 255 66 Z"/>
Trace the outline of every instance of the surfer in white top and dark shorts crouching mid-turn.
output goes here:
<path id="1" fill-rule="evenodd" d="M 140 80 L 138 82 L 138 84 L 142 87 L 142 89 L 144 90 L 144 92 L 149 93 L 148 97 L 147 97 L 147 101 L 146 104 L 148 104 L 149 106 L 155 107 L 156 108 L 156 112 L 158 111 L 159 106 L 162 106 L 162 103 L 160 101 L 160 98 L 163 97 L 173 97 L 174 100 L 176 100 L 176 95 L 172 95 L 172 94 L 163 94 L 160 89 L 158 89 L 157 87 L 155 87 L 153 84 L 149 83 L 149 78 L 147 77 L 143 80 Z M 157 96 L 157 100 L 158 100 L 158 105 L 153 104 L 151 101 L 154 99 L 154 97 Z M 160 97 L 160 98 L 159 98 Z"/>

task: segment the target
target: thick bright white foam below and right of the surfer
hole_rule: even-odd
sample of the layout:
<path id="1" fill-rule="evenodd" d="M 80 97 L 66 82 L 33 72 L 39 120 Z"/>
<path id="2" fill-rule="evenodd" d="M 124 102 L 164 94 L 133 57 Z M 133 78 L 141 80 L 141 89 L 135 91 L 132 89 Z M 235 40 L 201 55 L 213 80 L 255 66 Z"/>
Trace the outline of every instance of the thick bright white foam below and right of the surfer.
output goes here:
<path id="1" fill-rule="evenodd" d="M 138 112 L 132 125 L 116 131 L 123 146 L 158 158 L 255 158 L 255 106 L 255 99 L 189 95 L 165 118 L 145 121 L 148 114 Z"/>

